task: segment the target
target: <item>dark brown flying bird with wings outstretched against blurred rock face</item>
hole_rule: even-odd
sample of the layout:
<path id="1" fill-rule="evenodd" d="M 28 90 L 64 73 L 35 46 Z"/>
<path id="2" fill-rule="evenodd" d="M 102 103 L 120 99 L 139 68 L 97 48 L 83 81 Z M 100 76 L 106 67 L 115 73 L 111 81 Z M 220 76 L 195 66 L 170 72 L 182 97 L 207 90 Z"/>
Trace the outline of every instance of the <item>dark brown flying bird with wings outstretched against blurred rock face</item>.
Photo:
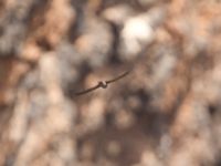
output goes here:
<path id="1" fill-rule="evenodd" d="M 113 82 L 115 82 L 115 81 L 118 81 L 118 80 L 125 77 L 125 76 L 126 76 L 127 74 L 129 74 L 129 73 L 130 73 L 130 71 L 127 71 L 127 72 L 125 72 L 125 73 L 123 73 L 123 74 L 120 74 L 120 75 L 118 75 L 117 77 L 114 77 L 114 79 L 112 79 L 112 80 L 99 81 L 99 82 L 97 83 L 97 85 L 95 85 L 95 86 L 93 86 L 93 87 L 90 87 L 90 89 L 87 89 L 87 90 L 77 92 L 77 93 L 75 93 L 75 95 L 86 94 L 86 93 L 92 92 L 92 91 L 94 91 L 94 90 L 96 90 L 96 89 L 99 89 L 99 87 L 106 89 L 108 84 L 110 84 L 110 83 L 113 83 Z"/>

